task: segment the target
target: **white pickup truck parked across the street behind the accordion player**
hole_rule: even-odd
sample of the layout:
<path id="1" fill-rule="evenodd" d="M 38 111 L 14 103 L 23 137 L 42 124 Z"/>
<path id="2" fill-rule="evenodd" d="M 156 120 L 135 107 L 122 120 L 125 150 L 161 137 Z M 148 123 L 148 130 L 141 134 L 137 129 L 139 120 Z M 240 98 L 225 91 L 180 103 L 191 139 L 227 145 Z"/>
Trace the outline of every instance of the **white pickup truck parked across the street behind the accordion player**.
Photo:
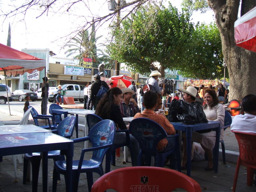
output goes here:
<path id="1" fill-rule="evenodd" d="M 74 97 L 74 100 L 84 102 L 84 89 L 82 85 L 65 84 L 61 85 L 61 89 L 66 91 L 64 97 Z M 49 92 L 48 101 L 56 103 L 57 90 Z"/>

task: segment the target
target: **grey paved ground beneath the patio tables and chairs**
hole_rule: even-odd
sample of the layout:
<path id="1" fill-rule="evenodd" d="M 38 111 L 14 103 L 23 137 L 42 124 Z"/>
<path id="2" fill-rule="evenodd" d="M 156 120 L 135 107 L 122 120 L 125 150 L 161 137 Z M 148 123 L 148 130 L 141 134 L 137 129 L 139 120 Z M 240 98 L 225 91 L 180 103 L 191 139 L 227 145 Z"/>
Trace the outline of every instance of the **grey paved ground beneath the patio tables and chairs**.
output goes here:
<path id="1" fill-rule="evenodd" d="M 37 104 L 35 104 L 36 106 Z M 39 105 L 39 104 L 38 104 Z M 34 107 L 34 106 L 33 106 Z M 8 108 L 8 106 L 7 106 Z M 11 121 L 11 120 L 20 120 L 20 116 L 9 115 L 9 111 L 6 110 L 7 108 L 3 108 L 1 105 L 0 109 L 0 117 L 3 121 Z M 23 107 L 22 107 L 23 108 Z M 39 109 L 36 108 L 37 111 Z M 7 113 L 6 113 L 7 111 Z M 19 107 L 15 107 L 15 110 L 13 110 L 16 114 L 20 113 Z M 22 113 L 23 114 L 23 113 Z M 80 118 L 79 124 L 82 125 L 84 121 L 84 118 Z M 28 124 L 33 124 L 34 122 L 29 120 Z M 41 123 L 42 125 L 44 123 Z M 82 126 L 81 126 L 82 128 Z M 226 138 L 225 138 L 225 145 L 226 149 L 232 149 L 236 150 L 237 143 L 233 133 L 230 132 L 230 130 L 226 130 Z M 82 137 L 84 135 L 84 131 L 80 130 L 78 131 L 79 137 Z M 75 134 L 72 138 L 75 138 Z M 89 144 L 90 146 L 90 144 Z M 74 145 L 74 158 L 73 159 L 79 159 L 81 149 L 83 149 L 84 143 L 76 143 Z M 122 151 L 122 150 L 121 150 Z M 85 154 L 85 159 L 90 159 L 91 153 Z M 221 155 L 220 155 L 221 156 Z M 236 156 L 237 158 L 237 156 Z M 129 157 L 130 159 L 130 157 Z M 120 157 L 116 157 L 116 166 L 111 166 L 111 170 L 118 169 L 121 167 L 127 167 L 132 166 L 130 162 L 126 162 L 126 164 L 122 164 L 124 160 L 124 156 L 121 153 Z M 14 171 L 13 171 L 13 163 L 12 163 L 12 157 L 11 156 L 4 156 L 3 162 L 1 163 L 1 175 L 0 175 L 0 192 L 16 192 L 16 191 L 32 191 L 32 182 L 27 182 L 27 184 L 22 184 L 22 176 L 23 176 L 23 164 L 18 164 L 18 178 L 14 178 Z M 236 170 L 236 163 L 232 162 L 226 162 L 226 165 L 223 164 L 223 162 L 219 161 L 219 172 L 214 173 L 214 171 L 205 171 L 204 167 L 207 166 L 207 161 L 197 161 L 192 162 L 192 169 L 191 169 L 191 177 L 196 180 L 200 186 L 203 192 L 210 192 L 210 191 L 219 191 L 219 192 L 231 192 L 233 180 L 234 180 L 234 174 Z M 169 168 L 169 163 L 165 166 L 166 168 Z M 105 160 L 103 162 L 103 169 L 105 170 Z M 53 170 L 53 161 L 49 160 L 48 162 L 48 182 L 49 182 L 49 191 L 52 191 L 52 170 Z M 182 170 L 183 173 L 186 173 L 186 170 Z M 99 178 L 99 175 L 97 173 L 93 174 L 94 181 Z M 171 180 L 171 178 L 170 178 Z M 239 171 L 239 177 L 237 181 L 237 192 L 253 192 L 256 191 L 255 186 L 246 186 L 247 176 L 246 176 L 246 167 L 241 166 Z M 42 172 L 40 170 L 39 172 L 39 180 L 38 180 L 38 191 L 42 191 Z M 65 181 L 63 175 L 61 175 L 61 180 L 57 185 L 57 191 L 65 191 Z M 86 180 L 86 174 L 82 173 L 79 180 L 79 192 L 81 191 L 88 191 L 87 188 L 87 180 Z M 113 190 L 111 190 L 113 191 Z M 184 191 L 181 189 L 176 189 L 176 191 Z"/>

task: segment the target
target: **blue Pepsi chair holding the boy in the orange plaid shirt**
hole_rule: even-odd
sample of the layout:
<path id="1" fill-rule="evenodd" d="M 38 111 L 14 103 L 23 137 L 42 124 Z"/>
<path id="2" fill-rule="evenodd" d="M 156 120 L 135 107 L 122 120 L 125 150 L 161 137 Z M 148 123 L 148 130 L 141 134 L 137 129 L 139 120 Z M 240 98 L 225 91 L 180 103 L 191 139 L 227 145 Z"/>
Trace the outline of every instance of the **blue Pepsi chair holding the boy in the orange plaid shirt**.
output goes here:
<path id="1" fill-rule="evenodd" d="M 144 154 L 146 158 L 146 165 L 150 166 L 151 156 L 155 158 L 156 167 L 164 167 L 164 161 L 168 155 L 175 152 L 178 164 L 178 170 L 181 172 L 180 168 L 180 146 L 179 146 L 179 134 L 167 135 L 165 130 L 157 124 L 147 118 L 136 118 L 133 119 L 129 126 L 130 133 L 133 137 L 138 140 L 140 145 L 140 152 L 138 156 L 137 165 L 141 164 L 141 155 Z M 168 152 L 159 153 L 157 152 L 157 144 L 160 140 L 164 138 L 175 138 L 175 146 Z"/>

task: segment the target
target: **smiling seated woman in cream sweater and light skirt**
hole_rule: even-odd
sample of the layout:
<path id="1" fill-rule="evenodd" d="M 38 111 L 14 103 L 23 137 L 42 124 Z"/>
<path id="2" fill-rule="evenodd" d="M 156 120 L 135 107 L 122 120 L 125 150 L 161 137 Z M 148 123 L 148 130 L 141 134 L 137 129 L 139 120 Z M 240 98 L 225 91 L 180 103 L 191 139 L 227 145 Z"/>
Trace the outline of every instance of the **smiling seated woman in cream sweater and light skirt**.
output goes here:
<path id="1" fill-rule="evenodd" d="M 225 111 L 222 104 L 219 104 L 218 97 L 216 92 L 213 89 L 206 89 L 204 91 L 204 101 L 205 104 L 203 106 L 204 113 L 206 118 L 209 121 L 218 121 L 220 122 L 220 126 L 224 126 L 224 117 Z M 204 131 L 204 132 L 202 132 Z M 212 161 L 212 149 L 215 145 L 216 132 L 212 131 L 212 129 L 202 130 L 199 132 L 192 132 L 192 141 L 198 142 L 201 144 L 202 148 L 205 150 L 208 156 L 208 165 L 205 168 L 206 171 L 212 170 L 213 161 Z M 220 131 L 220 139 L 223 139 L 224 131 L 221 129 Z M 186 140 L 183 142 L 183 154 L 181 161 L 181 168 L 185 169 L 185 165 L 187 163 L 187 151 L 186 151 Z"/>

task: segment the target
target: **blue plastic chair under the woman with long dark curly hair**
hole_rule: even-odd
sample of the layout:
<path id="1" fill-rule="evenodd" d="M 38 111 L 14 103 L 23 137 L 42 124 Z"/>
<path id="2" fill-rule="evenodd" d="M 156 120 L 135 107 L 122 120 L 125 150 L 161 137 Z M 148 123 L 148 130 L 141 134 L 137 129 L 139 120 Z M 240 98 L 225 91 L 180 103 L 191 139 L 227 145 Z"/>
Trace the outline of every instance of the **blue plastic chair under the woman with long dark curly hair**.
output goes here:
<path id="1" fill-rule="evenodd" d="M 88 129 L 90 130 L 95 124 L 97 124 L 98 122 L 102 121 L 103 119 L 100 116 L 97 116 L 95 114 L 88 114 L 86 116 L 86 122 L 88 125 Z M 130 152 L 131 152 L 131 159 L 132 159 L 132 166 L 134 166 L 134 160 L 133 160 L 133 156 L 132 156 L 132 145 L 130 144 L 130 135 L 129 135 L 129 130 L 116 130 L 116 132 L 125 132 L 126 134 L 126 140 L 124 143 L 122 144 L 118 144 L 115 145 L 113 144 L 106 155 L 106 168 L 105 168 L 105 173 L 110 172 L 110 164 L 112 162 L 112 165 L 115 166 L 116 165 L 116 149 L 120 148 L 120 147 L 124 147 L 124 146 L 129 146 L 130 148 Z"/>

